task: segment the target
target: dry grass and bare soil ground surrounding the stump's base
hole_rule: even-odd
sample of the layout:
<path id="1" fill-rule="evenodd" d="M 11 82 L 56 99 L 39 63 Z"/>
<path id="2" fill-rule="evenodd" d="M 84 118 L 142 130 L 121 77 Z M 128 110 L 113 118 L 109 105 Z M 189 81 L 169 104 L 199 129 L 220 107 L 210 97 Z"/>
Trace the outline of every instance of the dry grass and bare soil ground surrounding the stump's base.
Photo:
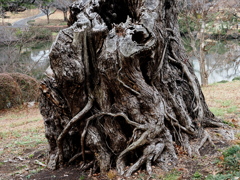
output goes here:
<path id="1" fill-rule="evenodd" d="M 215 114 L 235 130 L 235 140 L 226 141 L 216 131 L 212 131 L 215 147 L 208 143 L 201 149 L 200 157 L 188 157 L 176 146 L 178 166 L 171 172 L 153 168 L 153 175 L 148 176 L 139 170 L 130 178 L 119 177 L 114 170 L 106 175 L 82 172 L 79 166 L 67 167 L 57 171 L 45 169 L 47 157 L 47 141 L 44 137 L 44 125 L 37 107 L 17 108 L 0 111 L 0 179 L 66 179 L 66 180 L 174 180 L 205 179 L 209 174 L 223 171 L 223 167 L 215 164 L 221 158 L 222 150 L 232 144 L 240 144 L 240 81 L 224 84 L 213 84 L 203 88 L 206 101 Z M 220 138 L 221 139 L 221 138 Z M 196 173 L 201 178 L 196 178 Z"/>

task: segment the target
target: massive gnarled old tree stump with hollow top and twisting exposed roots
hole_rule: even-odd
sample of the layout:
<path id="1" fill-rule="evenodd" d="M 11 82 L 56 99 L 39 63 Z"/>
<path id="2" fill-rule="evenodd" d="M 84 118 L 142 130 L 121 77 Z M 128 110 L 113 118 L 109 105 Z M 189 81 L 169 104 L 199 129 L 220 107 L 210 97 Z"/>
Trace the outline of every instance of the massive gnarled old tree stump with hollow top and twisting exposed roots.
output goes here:
<path id="1" fill-rule="evenodd" d="M 83 163 L 130 176 L 176 165 L 221 126 L 180 40 L 176 0 L 79 0 L 41 84 L 48 167 Z M 126 168 L 126 166 L 130 166 Z"/>

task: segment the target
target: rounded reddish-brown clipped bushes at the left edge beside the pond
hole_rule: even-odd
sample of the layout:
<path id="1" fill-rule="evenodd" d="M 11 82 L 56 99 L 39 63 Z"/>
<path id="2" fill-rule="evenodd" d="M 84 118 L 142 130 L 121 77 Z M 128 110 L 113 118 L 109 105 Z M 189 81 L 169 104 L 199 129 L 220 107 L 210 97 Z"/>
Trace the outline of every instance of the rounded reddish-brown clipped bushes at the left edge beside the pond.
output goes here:
<path id="1" fill-rule="evenodd" d="M 20 73 L 0 73 L 0 109 L 36 101 L 37 98 L 38 82 L 34 78 Z"/>

